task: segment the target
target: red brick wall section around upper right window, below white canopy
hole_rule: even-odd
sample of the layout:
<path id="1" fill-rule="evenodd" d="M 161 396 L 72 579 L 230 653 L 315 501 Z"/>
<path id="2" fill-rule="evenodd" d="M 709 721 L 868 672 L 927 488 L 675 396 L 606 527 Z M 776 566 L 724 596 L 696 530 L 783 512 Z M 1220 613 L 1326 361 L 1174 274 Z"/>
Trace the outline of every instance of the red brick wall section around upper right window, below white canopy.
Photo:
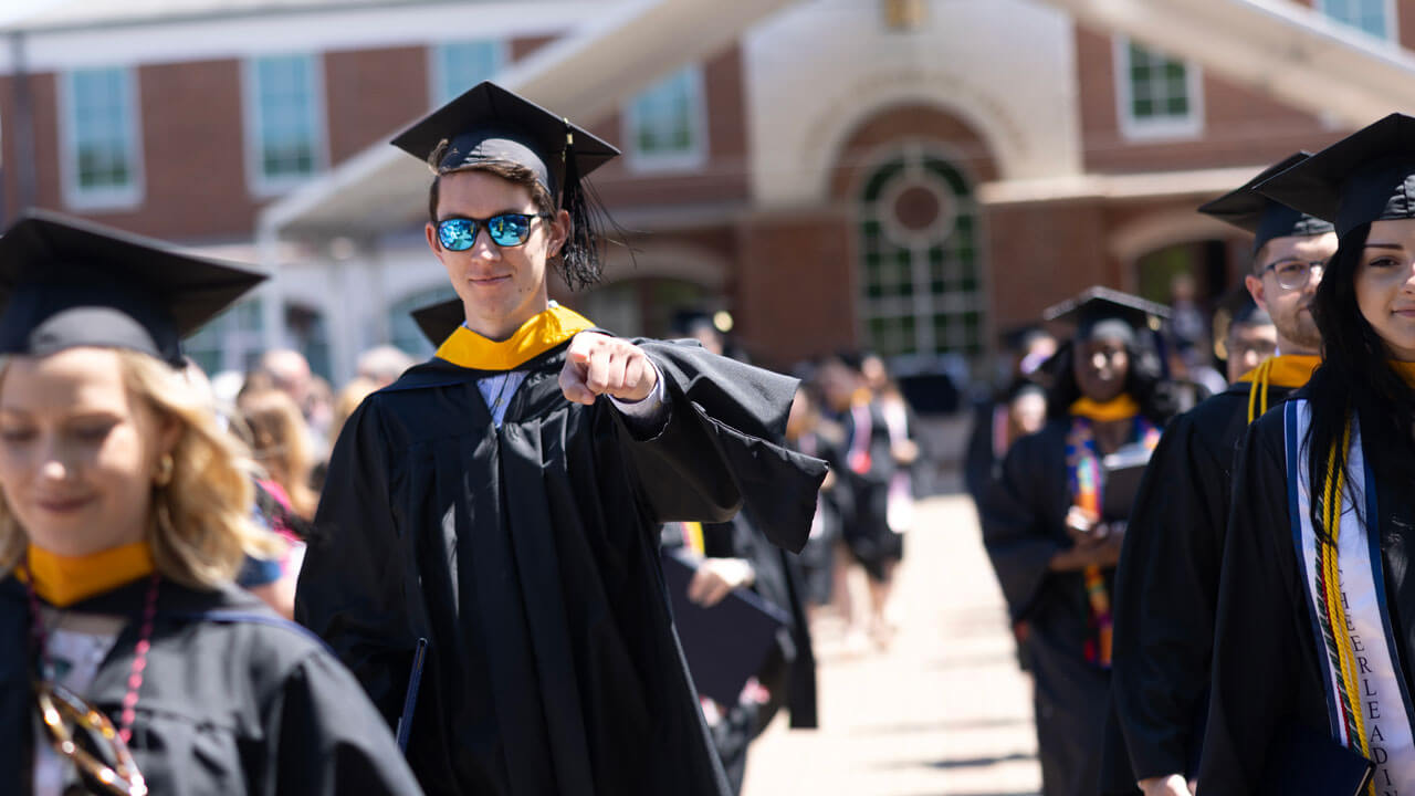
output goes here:
<path id="1" fill-rule="evenodd" d="M 1275 161 L 1320 149 L 1343 133 L 1259 92 L 1204 72 L 1204 126 L 1197 139 L 1132 142 L 1121 135 L 1112 37 L 1077 25 L 1081 133 L 1088 171 L 1135 173 Z"/>

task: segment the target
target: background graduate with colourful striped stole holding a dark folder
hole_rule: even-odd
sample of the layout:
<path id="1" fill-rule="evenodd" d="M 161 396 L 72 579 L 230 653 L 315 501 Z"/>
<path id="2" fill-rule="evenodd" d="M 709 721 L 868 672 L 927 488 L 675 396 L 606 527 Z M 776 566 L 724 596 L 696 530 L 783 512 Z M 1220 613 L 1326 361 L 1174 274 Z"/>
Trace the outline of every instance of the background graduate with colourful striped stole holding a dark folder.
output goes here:
<path id="1" fill-rule="evenodd" d="M 1012 446 L 982 506 L 1009 615 L 1027 623 L 1046 796 L 1091 796 L 1099 782 L 1108 599 L 1124 537 L 1124 521 L 1099 511 L 1099 456 L 1159 438 L 1167 411 L 1139 330 L 1163 312 L 1104 288 L 1049 310 L 1077 323 L 1058 354 L 1051 419 Z"/>

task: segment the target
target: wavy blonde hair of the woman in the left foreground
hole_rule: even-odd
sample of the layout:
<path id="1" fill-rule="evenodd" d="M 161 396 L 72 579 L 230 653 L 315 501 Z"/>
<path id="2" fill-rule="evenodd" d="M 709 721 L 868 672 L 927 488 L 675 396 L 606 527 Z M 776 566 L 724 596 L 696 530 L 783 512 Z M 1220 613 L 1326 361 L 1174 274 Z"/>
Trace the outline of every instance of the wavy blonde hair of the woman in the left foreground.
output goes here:
<path id="1" fill-rule="evenodd" d="M 177 422 L 173 477 L 153 486 L 147 541 L 157 571 L 194 589 L 231 584 L 246 554 L 277 558 L 283 542 L 252 520 L 255 466 L 183 374 L 161 360 L 116 350 L 123 382 L 160 418 Z M 0 381 L 7 361 L 0 360 Z M 24 555 L 28 535 L 0 493 L 0 576 Z"/>

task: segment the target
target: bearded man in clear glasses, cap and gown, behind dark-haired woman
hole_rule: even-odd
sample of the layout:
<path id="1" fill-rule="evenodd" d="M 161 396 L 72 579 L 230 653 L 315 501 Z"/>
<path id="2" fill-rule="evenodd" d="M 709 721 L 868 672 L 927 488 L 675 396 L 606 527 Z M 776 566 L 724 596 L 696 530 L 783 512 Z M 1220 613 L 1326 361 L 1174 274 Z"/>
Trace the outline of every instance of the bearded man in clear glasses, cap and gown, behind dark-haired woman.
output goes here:
<path id="1" fill-rule="evenodd" d="M 1180 796 L 1197 775 L 1234 455 L 1248 423 L 1306 384 L 1322 346 L 1307 307 L 1336 252 L 1332 224 L 1254 190 L 1306 157 L 1199 208 L 1254 234 L 1244 282 L 1272 316 L 1278 356 L 1174 418 L 1140 483 L 1115 576 L 1111 688 L 1126 749 L 1108 749 L 1133 776 L 1109 790 L 1139 782 L 1146 796 Z"/>

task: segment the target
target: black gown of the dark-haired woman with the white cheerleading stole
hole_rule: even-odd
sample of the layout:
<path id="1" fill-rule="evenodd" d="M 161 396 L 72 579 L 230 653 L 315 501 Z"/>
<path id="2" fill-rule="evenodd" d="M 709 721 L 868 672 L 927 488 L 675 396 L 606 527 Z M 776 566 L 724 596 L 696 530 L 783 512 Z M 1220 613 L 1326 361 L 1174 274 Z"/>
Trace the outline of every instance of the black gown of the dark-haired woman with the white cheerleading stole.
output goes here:
<path id="1" fill-rule="evenodd" d="M 1300 395 L 1300 392 L 1299 392 Z M 1204 796 L 1264 793 L 1264 766 L 1275 737 L 1305 727 L 1329 737 L 1326 695 L 1307 608 L 1307 585 L 1292 542 L 1288 510 L 1283 412 L 1268 412 L 1244 439 L 1235 465 L 1224 567 L 1214 616 L 1214 657 L 1199 792 Z M 1365 450 L 1390 440 L 1363 433 Z M 1398 440 L 1395 459 L 1374 473 L 1385 598 L 1397 654 L 1412 680 L 1415 635 L 1415 450 Z M 1382 793 L 1377 789 L 1377 793 Z"/>

